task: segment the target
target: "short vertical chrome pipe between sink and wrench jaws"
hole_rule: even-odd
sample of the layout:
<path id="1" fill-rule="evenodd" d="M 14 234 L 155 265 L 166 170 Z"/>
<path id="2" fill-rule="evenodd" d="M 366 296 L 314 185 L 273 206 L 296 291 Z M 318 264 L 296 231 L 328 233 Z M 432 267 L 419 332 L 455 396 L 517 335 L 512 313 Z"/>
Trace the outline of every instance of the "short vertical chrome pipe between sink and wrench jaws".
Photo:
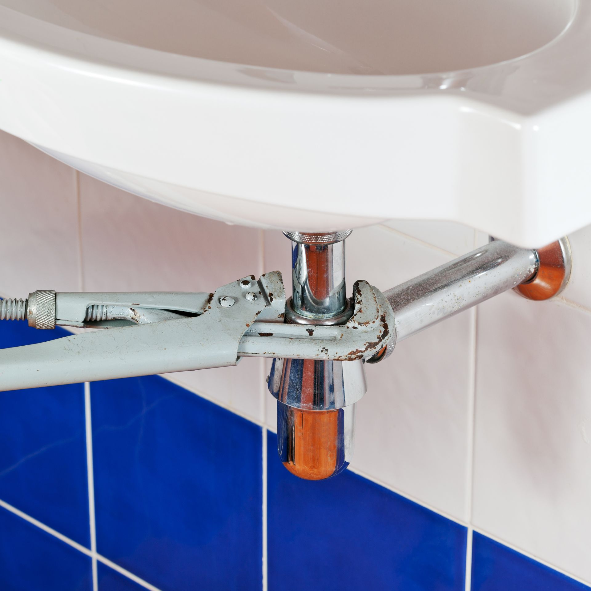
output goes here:
<path id="1" fill-rule="evenodd" d="M 326 235 L 311 235 L 326 236 Z M 338 316 L 348 303 L 345 295 L 345 242 L 291 242 L 293 297 L 296 314 L 316 319 Z"/>

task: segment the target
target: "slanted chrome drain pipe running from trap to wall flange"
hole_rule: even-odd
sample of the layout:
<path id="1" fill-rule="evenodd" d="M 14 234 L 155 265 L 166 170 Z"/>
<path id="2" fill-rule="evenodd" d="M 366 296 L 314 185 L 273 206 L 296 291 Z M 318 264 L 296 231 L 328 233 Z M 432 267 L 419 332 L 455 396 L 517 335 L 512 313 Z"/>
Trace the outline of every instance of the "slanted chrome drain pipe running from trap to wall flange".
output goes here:
<path id="1" fill-rule="evenodd" d="M 532 280 L 537 269 L 534 250 L 493 241 L 385 291 L 397 342 Z"/>

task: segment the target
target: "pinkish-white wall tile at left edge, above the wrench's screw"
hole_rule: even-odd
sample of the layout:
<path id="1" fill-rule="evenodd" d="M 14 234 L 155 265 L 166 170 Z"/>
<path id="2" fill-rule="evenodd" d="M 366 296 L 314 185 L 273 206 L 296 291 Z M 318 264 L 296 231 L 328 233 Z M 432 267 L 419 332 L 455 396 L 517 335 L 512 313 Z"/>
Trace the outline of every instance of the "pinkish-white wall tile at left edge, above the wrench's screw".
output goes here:
<path id="1" fill-rule="evenodd" d="M 76 173 L 0 131 L 0 294 L 80 289 Z"/>

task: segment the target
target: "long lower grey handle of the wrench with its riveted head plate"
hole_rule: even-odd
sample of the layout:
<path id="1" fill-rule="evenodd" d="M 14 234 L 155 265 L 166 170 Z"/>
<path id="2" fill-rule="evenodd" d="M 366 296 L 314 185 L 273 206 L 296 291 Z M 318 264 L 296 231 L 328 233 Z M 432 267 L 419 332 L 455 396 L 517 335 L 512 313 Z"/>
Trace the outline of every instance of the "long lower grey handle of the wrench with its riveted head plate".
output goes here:
<path id="1" fill-rule="evenodd" d="M 97 330 L 0 350 L 0 391 L 236 365 L 238 343 L 245 330 L 265 309 L 278 316 L 271 294 L 277 293 L 278 300 L 285 301 L 278 272 L 259 281 L 248 278 L 248 289 L 245 285 L 246 280 L 233 281 L 214 294 L 205 294 L 205 300 L 197 304 L 200 314 L 192 317 Z M 111 302 L 117 299 L 116 295 L 105 295 Z M 119 294 L 120 301 L 122 298 L 124 294 Z M 155 304 L 158 298 L 152 299 Z M 83 320 L 85 316 L 80 318 L 86 314 L 80 303 L 86 300 L 83 294 L 64 298 L 72 314 L 77 314 L 67 314 L 67 320 L 92 324 Z M 64 315 L 59 306 L 56 314 Z"/>

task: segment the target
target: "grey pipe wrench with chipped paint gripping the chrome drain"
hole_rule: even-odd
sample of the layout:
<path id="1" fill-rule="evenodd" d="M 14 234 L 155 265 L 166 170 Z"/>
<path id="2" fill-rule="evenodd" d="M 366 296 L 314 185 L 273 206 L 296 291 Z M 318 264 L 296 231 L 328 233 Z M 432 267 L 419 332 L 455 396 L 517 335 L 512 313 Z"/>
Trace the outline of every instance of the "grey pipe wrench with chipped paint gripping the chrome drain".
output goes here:
<path id="1" fill-rule="evenodd" d="M 61 323 L 111 330 L 0 350 L 0 391 L 236 365 L 241 356 L 361 359 L 384 346 L 392 336 L 388 326 L 394 326 L 387 300 L 365 281 L 356 284 L 355 313 L 346 325 L 283 324 L 285 290 L 278 271 L 258 281 L 234 281 L 213 294 L 183 294 L 190 310 L 180 305 L 180 295 L 176 311 L 146 306 L 160 302 L 168 308 L 175 298 L 165 294 L 59 296 L 64 297 L 56 298 L 56 315 L 69 316 Z M 90 306 L 106 306 L 97 311 L 105 320 L 85 320 L 92 317 Z"/>

